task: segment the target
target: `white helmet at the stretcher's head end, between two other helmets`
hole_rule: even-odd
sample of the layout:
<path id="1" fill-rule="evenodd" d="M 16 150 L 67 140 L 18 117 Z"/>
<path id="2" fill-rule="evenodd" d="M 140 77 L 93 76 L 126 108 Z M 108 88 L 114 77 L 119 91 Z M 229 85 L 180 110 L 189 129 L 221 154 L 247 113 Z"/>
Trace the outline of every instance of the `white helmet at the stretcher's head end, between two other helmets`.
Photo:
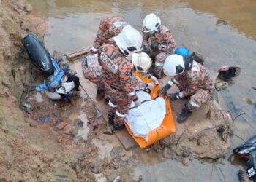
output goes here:
<path id="1" fill-rule="evenodd" d="M 151 65 L 152 60 L 145 52 L 132 54 L 132 66 L 135 71 L 145 73 Z"/>

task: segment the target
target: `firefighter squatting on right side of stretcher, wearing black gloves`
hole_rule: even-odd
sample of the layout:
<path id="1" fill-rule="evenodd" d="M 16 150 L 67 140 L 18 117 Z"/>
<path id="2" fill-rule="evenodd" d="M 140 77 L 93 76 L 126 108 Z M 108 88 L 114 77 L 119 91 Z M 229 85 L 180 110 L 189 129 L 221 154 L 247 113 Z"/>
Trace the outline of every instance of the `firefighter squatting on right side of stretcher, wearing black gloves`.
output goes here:
<path id="1" fill-rule="evenodd" d="M 213 99 L 215 89 L 208 71 L 192 58 L 185 59 L 181 55 L 169 55 L 163 68 L 165 75 L 172 76 L 173 82 L 168 82 L 160 92 L 165 92 L 166 88 L 174 83 L 179 92 L 168 94 L 170 100 L 190 97 L 181 114 L 178 115 L 179 123 L 183 123 L 192 114 L 192 111 L 200 108 L 202 103 Z"/>

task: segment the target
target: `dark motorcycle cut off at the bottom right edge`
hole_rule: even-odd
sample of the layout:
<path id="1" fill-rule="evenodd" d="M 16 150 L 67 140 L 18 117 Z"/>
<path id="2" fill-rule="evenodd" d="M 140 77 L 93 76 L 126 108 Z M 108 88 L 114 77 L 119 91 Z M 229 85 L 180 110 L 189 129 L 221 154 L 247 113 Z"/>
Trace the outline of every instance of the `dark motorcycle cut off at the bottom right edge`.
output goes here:
<path id="1" fill-rule="evenodd" d="M 233 154 L 246 161 L 246 173 L 249 178 L 256 181 L 256 135 L 233 149 Z"/>

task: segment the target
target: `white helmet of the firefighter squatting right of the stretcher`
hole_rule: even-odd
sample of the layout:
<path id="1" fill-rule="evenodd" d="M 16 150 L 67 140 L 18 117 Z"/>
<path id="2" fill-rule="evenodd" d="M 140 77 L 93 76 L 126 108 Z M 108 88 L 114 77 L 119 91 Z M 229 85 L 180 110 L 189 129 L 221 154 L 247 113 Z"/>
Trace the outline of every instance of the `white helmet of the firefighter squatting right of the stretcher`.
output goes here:
<path id="1" fill-rule="evenodd" d="M 175 76 L 185 71 L 184 58 L 182 55 L 169 55 L 165 59 L 164 74 L 167 76 Z"/>

